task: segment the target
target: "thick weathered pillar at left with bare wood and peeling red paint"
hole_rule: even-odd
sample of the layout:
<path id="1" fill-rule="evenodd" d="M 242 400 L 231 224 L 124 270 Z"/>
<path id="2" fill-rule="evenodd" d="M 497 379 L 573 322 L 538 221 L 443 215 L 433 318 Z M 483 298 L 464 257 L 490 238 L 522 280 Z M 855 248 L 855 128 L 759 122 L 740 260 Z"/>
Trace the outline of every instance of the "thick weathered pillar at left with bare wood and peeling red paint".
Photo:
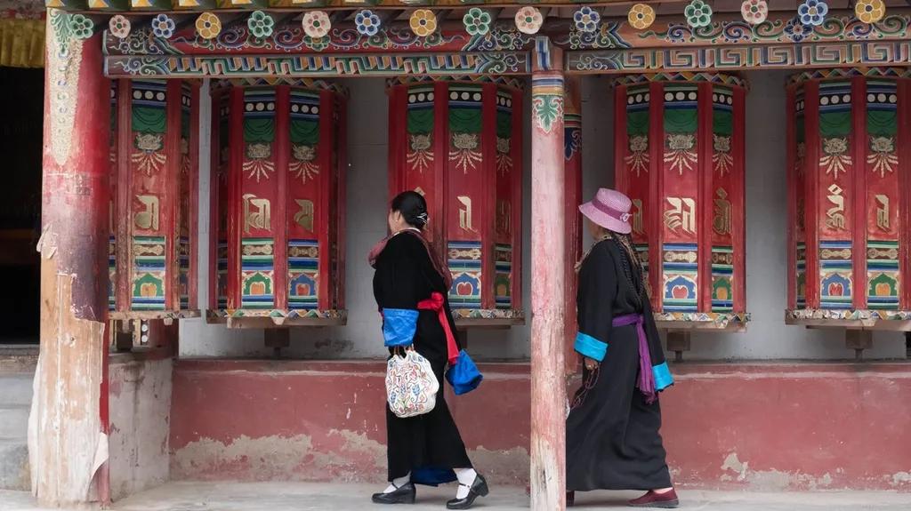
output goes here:
<path id="1" fill-rule="evenodd" d="M 41 354 L 29 419 L 41 506 L 107 499 L 107 207 L 110 85 L 82 15 L 47 16 Z"/>

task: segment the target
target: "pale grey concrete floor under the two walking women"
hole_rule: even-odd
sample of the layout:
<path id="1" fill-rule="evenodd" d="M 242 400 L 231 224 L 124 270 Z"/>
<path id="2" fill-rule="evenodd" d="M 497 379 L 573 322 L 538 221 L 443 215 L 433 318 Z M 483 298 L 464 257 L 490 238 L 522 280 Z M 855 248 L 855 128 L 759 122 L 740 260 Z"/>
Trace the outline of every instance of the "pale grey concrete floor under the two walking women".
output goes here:
<path id="1" fill-rule="evenodd" d="M 171 483 L 118 502 L 116 511 L 365 511 L 374 486 L 310 483 Z M 445 509 L 455 487 L 418 488 L 418 504 L 409 511 Z M 574 509 L 625 507 L 629 492 L 579 494 Z M 826 492 L 761 494 L 681 491 L 681 509 L 712 511 L 909 511 L 911 494 Z M 493 488 L 476 509 L 517 511 L 528 508 L 521 488 Z M 0 491 L 0 511 L 43 511 L 24 492 Z"/>

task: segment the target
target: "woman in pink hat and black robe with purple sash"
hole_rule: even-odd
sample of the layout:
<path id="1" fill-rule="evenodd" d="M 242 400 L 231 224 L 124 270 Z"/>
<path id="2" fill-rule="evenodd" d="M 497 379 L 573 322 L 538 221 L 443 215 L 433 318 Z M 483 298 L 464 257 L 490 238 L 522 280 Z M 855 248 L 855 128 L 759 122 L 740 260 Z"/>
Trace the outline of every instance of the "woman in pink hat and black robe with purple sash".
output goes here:
<path id="1" fill-rule="evenodd" d="M 582 386 L 567 418 L 567 501 L 576 491 L 648 490 L 636 507 L 676 507 L 658 393 L 673 383 L 630 239 L 630 198 L 601 188 L 579 206 L 596 243 L 578 268 Z"/>

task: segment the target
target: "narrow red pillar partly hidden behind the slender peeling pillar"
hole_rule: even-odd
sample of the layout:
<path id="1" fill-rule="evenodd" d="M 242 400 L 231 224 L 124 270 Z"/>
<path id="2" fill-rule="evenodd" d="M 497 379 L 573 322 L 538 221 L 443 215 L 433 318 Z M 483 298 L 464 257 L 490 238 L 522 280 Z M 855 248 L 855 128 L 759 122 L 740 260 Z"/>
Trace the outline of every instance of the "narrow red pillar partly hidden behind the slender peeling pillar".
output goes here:
<path id="1" fill-rule="evenodd" d="M 567 76 L 564 103 L 563 158 L 564 194 L 566 200 L 567 260 L 566 281 L 566 374 L 578 370 L 578 357 L 574 349 L 576 338 L 576 263 L 582 255 L 582 215 L 578 205 L 582 203 L 582 98 L 581 76 Z"/>

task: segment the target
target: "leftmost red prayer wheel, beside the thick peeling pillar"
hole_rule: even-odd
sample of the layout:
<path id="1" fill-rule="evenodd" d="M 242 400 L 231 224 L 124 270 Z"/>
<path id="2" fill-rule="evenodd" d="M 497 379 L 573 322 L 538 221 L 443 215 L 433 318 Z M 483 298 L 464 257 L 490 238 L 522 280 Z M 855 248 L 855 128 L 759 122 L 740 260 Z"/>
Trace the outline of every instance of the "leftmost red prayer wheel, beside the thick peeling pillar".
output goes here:
<path id="1" fill-rule="evenodd" d="M 111 87 L 111 319 L 199 316 L 199 93 L 180 80 Z"/>

